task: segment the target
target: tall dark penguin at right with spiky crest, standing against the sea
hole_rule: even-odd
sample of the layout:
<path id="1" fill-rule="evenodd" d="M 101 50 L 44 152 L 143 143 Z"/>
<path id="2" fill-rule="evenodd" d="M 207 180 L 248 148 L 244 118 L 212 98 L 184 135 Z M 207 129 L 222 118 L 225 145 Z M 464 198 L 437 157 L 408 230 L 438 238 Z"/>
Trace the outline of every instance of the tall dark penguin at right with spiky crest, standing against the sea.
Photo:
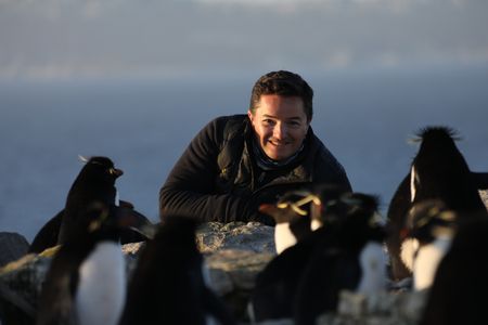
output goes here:
<path id="1" fill-rule="evenodd" d="M 400 258 L 400 230 L 413 204 L 439 199 L 448 209 L 461 212 L 463 218 L 480 216 L 478 212 L 486 213 L 477 191 L 479 181 L 470 171 L 455 145 L 455 131 L 447 127 L 427 127 L 418 135 L 421 142 L 419 152 L 411 164 L 410 172 L 391 198 L 387 212 L 390 235 L 386 244 L 394 280 L 411 275 Z"/>

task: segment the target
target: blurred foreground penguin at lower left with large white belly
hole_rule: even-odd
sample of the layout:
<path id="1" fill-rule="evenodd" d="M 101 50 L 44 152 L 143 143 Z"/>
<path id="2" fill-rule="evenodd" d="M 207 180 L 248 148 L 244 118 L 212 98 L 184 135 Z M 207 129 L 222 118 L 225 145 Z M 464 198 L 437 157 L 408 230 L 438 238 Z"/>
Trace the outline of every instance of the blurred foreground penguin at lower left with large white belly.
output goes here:
<path id="1" fill-rule="evenodd" d="M 119 233 L 129 213 L 102 203 L 93 203 L 85 213 L 86 226 L 66 238 L 51 262 L 38 325 L 115 325 L 120 317 L 127 284 Z"/>

